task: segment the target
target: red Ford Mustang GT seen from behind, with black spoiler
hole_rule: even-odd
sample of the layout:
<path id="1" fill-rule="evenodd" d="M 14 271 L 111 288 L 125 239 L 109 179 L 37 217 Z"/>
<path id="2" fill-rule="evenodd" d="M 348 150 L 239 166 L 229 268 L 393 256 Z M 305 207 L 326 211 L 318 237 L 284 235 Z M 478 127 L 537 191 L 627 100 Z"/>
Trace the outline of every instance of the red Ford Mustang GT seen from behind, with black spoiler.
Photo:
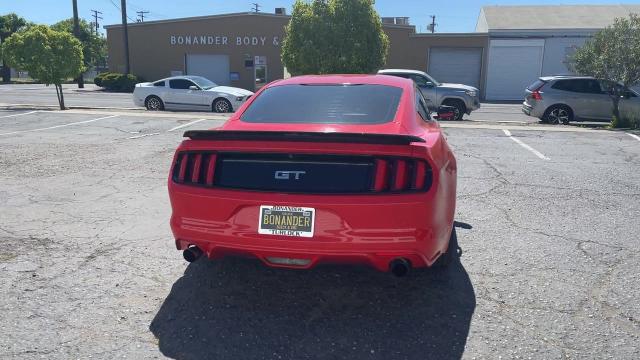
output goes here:
<path id="1" fill-rule="evenodd" d="M 184 136 L 169 196 L 187 261 L 367 263 L 401 276 L 453 256 L 456 159 L 411 80 L 280 80 L 221 128 Z"/>

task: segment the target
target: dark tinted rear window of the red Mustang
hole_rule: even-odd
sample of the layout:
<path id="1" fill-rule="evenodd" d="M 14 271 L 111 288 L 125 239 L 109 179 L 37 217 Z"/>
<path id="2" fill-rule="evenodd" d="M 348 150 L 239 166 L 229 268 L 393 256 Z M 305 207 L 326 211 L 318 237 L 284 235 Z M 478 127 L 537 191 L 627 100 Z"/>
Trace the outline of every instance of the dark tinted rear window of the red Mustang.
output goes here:
<path id="1" fill-rule="evenodd" d="M 242 114 L 252 123 L 381 124 L 395 117 L 402 89 L 385 85 L 281 85 Z"/>

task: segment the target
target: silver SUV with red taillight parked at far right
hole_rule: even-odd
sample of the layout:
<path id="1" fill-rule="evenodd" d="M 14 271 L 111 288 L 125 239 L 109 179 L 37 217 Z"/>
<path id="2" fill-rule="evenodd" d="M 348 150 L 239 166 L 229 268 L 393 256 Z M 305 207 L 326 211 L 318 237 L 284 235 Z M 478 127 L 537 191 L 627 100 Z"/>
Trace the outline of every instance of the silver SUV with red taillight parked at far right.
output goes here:
<path id="1" fill-rule="evenodd" d="M 620 108 L 637 108 L 640 97 L 631 89 L 586 76 L 546 76 L 525 90 L 522 111 L 543 122 L 568 124 L 574 120 L 611 121 L 613 102 L 609 89 L 619 87 Z"/>

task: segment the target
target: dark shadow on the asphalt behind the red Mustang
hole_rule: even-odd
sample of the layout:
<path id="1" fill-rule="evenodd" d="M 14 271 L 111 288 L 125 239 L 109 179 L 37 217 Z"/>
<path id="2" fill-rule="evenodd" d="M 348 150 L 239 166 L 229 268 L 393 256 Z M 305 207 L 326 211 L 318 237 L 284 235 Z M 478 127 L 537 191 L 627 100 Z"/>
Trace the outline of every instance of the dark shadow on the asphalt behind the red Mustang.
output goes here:
<path id="1" fill-rule="evenodd" d="M 150 330 L 176 359 L 459 359 L 476 299 L 456 258 L 403 278 L 361 266 L 295 271 L 201 258 Z"/>

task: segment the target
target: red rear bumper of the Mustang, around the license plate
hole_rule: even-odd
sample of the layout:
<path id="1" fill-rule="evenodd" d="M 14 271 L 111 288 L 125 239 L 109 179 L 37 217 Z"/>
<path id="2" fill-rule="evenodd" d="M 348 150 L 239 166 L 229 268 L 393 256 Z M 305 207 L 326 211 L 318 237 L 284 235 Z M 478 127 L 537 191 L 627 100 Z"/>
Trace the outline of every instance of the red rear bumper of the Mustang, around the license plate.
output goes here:
<path id="1" fill-rule="evenodd" d="M 447 248 L 455 206 L 449 204 L 450 211 L 446 211 L 446 204 L 436 206 L 438 189 L 432 189 L 433 194 L 349 198 L 197 189 L 178 184 L 170 187 L 174 189 L 171 229 L 177 249 L 195 245 L 212 259 L 248 255 L 269 266 L 289 268 L 337 262 L 368 264 L 387 271 L 389 262 L 399 257 L 408 259 L 414 267 L 430 266 Z M 284 198 L 287 200 L 274 201 Z M 258 234 L 260 205 L 316 209 L 314 236 Z M 306 262 L 283 265 L 270 260 L 273 258 Z"/>

